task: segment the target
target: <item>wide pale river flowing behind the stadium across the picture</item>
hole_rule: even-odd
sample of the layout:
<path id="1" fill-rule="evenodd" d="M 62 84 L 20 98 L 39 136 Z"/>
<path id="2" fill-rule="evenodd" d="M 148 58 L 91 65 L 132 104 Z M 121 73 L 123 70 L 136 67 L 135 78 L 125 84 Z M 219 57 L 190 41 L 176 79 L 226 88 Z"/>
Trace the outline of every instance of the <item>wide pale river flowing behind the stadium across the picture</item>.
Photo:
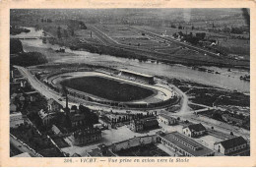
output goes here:
<path id="1" fill-rule="evenodd" d="M 19 36 L 39 36 L 42 34 L 42 30 L 31 29 L 28 33 L 21 33 L 18 35 L 11 35 L 11 37 Z M 22 40 L 24 50 L 32 51 L 34 49 L 59 49 L 59 45 L 51 45 L 49 43 L 42 43 L 41 39 L 25 39 Z M 148 62 L 139 62 L 134 59 L 126 59 L 120 57 L 114 57 L 109 55 L 99 55 L 90 53 L 87 51 L 73 51 L 66 48 L 66 53 L 69 55 L 65 57 L 59 57 L 52 62 L 56 63 L 87 63 L 87 64 L 97 64 L 102 66 L 111 66 L 117 69 L 127 69 L 135 72 L 140 72 L 144 74 L 154 75 L 154 76 L 164 76 L 167 78 L 176 78 L 186 81 L 192 81 L 204 85 L 214 85 L 218 87 L 224 87 L 227 89 L 236 89 L 238 91 L 249 93 L 250 92 L 250 83 L 241 81 L 240 76 L 249 74 L 248 71 L 241 69 L 232 69 L 231 72 L 228 72 L 226 68 L 218 67 L 205 67 L 221 74 L 212 74 L 207 72 L 201 72 L 198 70 L 193 70 L 191 67 L 186 67 L 182 65 L 168 65 L 164 63 L 152 63 Z M 44 53 L 45 54 L 45 53 Z M 50 53 L 46 53 L 47 58 L 51 57 Z M 56 55 L 56 54 L 55 54 Z"/>

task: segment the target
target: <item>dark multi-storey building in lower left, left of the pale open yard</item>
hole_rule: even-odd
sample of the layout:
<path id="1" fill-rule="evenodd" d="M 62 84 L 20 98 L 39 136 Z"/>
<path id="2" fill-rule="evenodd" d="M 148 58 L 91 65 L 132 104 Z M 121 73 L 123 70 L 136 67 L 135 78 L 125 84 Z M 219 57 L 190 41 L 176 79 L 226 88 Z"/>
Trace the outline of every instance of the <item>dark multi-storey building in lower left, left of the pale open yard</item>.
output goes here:
<path id="1" fill-rule="evenodd" d="M 86 128 L 72 133 L 71 141 L 74 145 L 84 145 L 101 140 L 101 131 L 98 128 Z"/>

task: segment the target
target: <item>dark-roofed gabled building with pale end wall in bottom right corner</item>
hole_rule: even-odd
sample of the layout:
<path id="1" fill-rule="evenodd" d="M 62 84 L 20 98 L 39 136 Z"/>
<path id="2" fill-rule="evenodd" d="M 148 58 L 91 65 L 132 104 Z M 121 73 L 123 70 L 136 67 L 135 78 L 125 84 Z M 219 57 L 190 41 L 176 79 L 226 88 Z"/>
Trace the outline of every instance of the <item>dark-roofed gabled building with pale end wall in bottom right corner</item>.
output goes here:
<path id="1" fill-rule="evenodd" d="M 224 155 L 235 155 L 248 149 L 248 143 L 242 137 L 235 137 L 223 142 L 216 142 L 214 148 Z"/>

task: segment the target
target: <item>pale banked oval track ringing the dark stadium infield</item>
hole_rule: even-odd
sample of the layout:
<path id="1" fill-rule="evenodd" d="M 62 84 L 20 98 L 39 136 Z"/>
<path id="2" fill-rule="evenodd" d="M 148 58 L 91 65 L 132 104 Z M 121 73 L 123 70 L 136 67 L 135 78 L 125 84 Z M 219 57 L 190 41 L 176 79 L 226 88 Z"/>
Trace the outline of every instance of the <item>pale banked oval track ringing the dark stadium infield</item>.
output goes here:
<path id="1" fill-rule="evenodd" d="M 50 83 L 52 85 L 57 85 L 58 86 L 59 83 L 61 81 L 63 81 L 64 79 L 68 80 L 68 79 L 73 79 L 73 78 L 91 77 L 91 76 L 97 76 L 97 77 L 112 79 L 112 80 L 115 80 L 115 81 L 118 81 L 118 82 L 124 82 L 124 83 L 127 83 L 127 84 L 132 84 L 132 85 L 138 85 L 138 86 L 142 86 L 142 87 L 146 87 L 146 88 L 151 88 L 151 89 L 157 91 L 157 93 L 155 93 L 152 96 L 149 96 L 145 99 L 129 101 L 129 102 L 133 102 L 133 103 L 160 102 L 160 101 L 165 101 L 169 98 L 172 98 L 172 96 L 173 96 L 173 92 L 172 92 L 171 89 L 167 89 L 167 88 L 162 87 L 162 86 L 147 85 L 147 84 L 143 84 L 143 83 L 139 83 L 139 82 L 130 81 L 130 80 L 127 80 L 127 79 L 114 77 L 114 76 L 107 75 L 107 74 L 100 73 L 100 72 L 63 73 L 63 74 L 59 74 L 59 75 L 56 75 L 56 76 L 49 77 L 47 81 L 48 81 L 48 83 Z M 100 98 L 98 96 L 94 96 L 92 94 L 89 94 L 89 96 L 95 97 L 97 99 L 103 99 L 103 98 Z M 106 100 L 106 99 L 103 99 L 103 100 Z"/>

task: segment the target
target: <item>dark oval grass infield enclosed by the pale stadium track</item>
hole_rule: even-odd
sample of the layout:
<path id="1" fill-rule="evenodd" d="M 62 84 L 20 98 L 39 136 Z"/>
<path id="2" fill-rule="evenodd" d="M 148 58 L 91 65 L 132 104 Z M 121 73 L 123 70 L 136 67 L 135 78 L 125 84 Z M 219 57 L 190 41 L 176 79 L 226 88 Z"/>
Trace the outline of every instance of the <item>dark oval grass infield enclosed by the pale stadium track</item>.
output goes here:
<path id="1" fill-rule="evenodd" d="M 60 84 L 114 101 L 140 100 L 154 94 L 151 89 L 101 77 L 74 78 Z"/>

